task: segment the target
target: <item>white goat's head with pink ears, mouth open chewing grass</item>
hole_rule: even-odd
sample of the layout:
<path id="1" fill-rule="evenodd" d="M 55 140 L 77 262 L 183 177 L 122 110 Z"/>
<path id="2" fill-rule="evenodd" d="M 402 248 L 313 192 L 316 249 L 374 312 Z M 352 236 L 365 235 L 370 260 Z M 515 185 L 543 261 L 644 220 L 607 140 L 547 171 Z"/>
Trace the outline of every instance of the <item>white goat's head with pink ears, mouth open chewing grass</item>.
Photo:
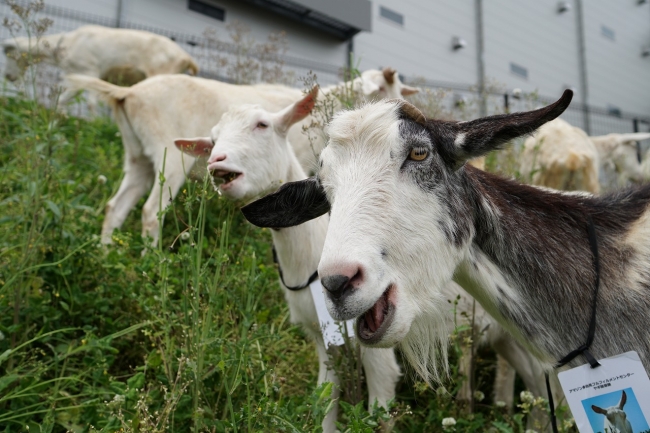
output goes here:
<path id="1" fill-rule="evenodd" d="M 208 171 L 219 191 L 232 200 L 250 201 L 285 182 L 295 156 L 287 131 L 311 111 L 317 90 L 277 113 L 259 105 L 240 105 L 223 114 L 210 137 L 177 139 L 193 156 L 209 153 Z M 297 163 L 297 162 L 296 162 Z"/>

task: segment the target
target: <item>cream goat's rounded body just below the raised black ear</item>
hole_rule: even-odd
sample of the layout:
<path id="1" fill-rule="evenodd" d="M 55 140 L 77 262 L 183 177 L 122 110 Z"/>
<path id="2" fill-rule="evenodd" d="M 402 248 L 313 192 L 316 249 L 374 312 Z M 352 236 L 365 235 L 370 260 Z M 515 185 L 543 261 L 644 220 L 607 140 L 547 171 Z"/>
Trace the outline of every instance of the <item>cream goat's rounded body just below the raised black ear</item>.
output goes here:
<path id="1" fill-rule="evenodd" d="M 526 139 L 520 172 L 533 185 L 597 193 L 599 165 L 598 149 L 587 134 L 555 119 Z"/>

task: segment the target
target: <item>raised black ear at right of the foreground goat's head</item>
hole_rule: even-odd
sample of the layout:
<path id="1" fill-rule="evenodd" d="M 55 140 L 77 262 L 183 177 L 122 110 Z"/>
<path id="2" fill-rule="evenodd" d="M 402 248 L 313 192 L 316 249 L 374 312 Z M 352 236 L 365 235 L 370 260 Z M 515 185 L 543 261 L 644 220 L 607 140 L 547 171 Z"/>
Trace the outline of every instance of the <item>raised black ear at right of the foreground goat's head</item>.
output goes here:
<path id="1" fill-rule="evenodd" d="M 531 134 L 566 110 L 573 98 L 573 91 L 565 90 L 560 99 L 551 105 L 533 111 L 499 114 L 452 124 L 455 129 L 453 144 L 444 149 L 448 162 L 455 168 L 461 167 L 470 158 L 485 155 L 499 149 L 513 138 Z M 444 157 L 444 156 L 443 156 Z"/>

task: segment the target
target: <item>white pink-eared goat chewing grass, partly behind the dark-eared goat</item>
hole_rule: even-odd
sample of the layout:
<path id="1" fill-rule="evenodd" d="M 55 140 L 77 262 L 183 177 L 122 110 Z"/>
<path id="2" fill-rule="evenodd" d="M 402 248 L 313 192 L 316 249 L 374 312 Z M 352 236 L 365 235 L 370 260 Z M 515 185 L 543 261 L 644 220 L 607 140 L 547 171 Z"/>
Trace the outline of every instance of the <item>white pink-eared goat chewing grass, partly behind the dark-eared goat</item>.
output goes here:
<path id="1" fill-rule="evenodd" d="M 212 128 L 210 137 L 178 139 L 176 146 L 193 156 L 209 154 L 208 170 L 214 179 L 223 181 L 219 185 L 221 194 L 233 200 L 250 201 L 282 182 L 307 178 L 287 140 L 287 132 L 309 115 L 316 95 L 315 88 L 302 100 L 277 113 L 270 113 L 259 105 L 232 107 Z M 328 355 L 314 300 L 308 284 L 305 285 L 318 266 L 327 220 L 327 216 L 322 216 L 297 227 L 273 230 L 271 235 L 291 321 L 302 325 L 316 342 L 318 383 L 330 381 L 338 385 L 336 373 L 327 366 Z M 294 287 L 294 290 L 287 287 Z M 395 397 L 395 385 L 400 377 L 393 350 L 363 348 L 361 356 L 370 405 L 377 400 L 379 405 L 387 407 Z M 332 397 L 338 395 L 339 389 L 335 387 Z M 324 432 L 336 431 L 337 412 L 338 407 L 334 406 L 327 415 Z"/>

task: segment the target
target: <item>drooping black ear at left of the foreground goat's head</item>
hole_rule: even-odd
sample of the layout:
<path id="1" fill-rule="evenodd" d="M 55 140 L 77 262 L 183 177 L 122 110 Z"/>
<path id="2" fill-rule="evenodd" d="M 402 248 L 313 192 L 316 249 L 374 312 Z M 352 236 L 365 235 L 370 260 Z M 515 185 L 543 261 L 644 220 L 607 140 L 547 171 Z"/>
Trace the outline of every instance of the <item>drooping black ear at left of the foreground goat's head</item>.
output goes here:
<path id="1" fill-rule="evenodd" d="M 310 177 L 288 182 L 276 192 L 244 206 L 244 217 L 258 227 L 292 227 L 329 212 L 323 187 Z"/>

